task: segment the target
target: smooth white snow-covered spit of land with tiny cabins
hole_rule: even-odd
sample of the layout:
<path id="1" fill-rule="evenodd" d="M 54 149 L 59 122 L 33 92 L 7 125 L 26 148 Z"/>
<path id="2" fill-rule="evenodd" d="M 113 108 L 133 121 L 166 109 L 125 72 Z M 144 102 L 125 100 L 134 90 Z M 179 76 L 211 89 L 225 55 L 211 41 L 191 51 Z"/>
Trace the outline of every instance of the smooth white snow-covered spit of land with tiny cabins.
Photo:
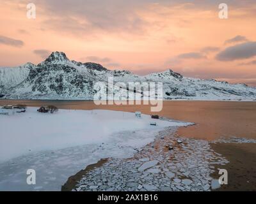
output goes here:
<path id="1" fill-rule="evenodd" d="M 0 115 L 0 191 L 60 191 L 68 177 L 106 157 L 132 157 L 164 128 L 188 122 L 110 110 Z M 150 122 L 157 126 L 150 126 Z M 36 171 L 28 185 L 26 171 Z"/>

